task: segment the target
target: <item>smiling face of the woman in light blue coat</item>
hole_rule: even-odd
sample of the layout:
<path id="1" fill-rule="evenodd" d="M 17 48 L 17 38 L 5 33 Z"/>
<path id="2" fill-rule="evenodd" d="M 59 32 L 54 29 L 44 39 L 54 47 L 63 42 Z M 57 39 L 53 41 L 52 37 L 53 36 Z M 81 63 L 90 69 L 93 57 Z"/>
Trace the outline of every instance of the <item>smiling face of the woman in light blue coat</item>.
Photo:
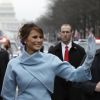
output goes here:
<path id="1" fill-rule="evenodd" d="M 43 44 L 43 35 L 36 30 L 32 30 L 29 36 L 25 39 L 24 43 L 26 46 L 26 51 L 32 54 L 41 49 Z"/>

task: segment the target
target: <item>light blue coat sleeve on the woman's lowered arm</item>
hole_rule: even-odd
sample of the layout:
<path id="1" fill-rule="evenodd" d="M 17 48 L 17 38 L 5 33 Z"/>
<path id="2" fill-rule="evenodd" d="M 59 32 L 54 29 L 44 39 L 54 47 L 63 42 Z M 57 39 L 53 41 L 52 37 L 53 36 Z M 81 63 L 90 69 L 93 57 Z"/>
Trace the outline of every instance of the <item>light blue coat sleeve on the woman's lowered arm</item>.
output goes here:
<path id="1" fill-rule="evenodd" d="M 9 86 L 9 89 L 8 89 Z M 2 94 L 6 94 L 5 98 L 3 100 L 15 100 L 16 97 L 16 81 L 14 77 L 14 73 L 12 71 L 12 66 L 8 63 L 5 78 L 4 78 L 4 83 L 3 83 L 3 88 L 1 92 Z"/>

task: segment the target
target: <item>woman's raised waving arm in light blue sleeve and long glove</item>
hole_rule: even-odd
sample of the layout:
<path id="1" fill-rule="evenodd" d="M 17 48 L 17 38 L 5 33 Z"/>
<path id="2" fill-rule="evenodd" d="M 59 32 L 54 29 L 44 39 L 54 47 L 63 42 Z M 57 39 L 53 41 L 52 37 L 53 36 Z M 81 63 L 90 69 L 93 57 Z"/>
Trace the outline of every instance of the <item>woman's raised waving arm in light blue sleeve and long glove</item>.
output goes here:
<path id="1" fill-rule="evenodd" d="M 63 63 L 60 67 L 57 67 L 58 76 L 73 82 L 83 82 L 91 79 L 90 68 L 96 53 L 95 38 L 92 34 L 89 35 L 87 42 L 86 58 L 83 64 L 75 69 L 70 63 Z"/>

